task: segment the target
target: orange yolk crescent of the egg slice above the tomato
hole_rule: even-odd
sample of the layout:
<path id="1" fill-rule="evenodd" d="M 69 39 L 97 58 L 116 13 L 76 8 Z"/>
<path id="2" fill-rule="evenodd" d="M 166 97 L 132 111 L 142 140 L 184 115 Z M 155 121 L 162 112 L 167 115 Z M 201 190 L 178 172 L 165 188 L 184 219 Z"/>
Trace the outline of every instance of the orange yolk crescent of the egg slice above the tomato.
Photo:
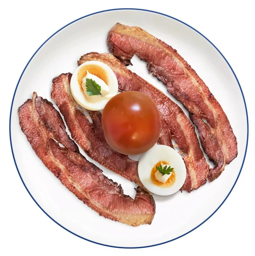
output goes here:
<path id="1" fill-rule="evenodd" d="M 86 65 L 83 66 L 77 74 L 77 81 L 78 84 L 80 84 L 80 87 L 82 84 L 82 79 L 87 75 L 87 71 L 89 71 L 89 73 L 92 75 L 99 77 L 108 85 L 108 78 L 105 70 L 102 67 L 97 65 Z"/>

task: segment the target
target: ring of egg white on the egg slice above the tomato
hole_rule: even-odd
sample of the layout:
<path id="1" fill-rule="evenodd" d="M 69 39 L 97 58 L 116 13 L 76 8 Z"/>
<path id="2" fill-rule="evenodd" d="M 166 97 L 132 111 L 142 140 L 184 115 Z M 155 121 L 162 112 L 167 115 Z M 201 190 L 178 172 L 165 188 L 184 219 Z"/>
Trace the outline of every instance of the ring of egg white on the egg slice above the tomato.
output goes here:
<path id="1" fill-rule="evenodd" d="M 90 102 L 84 92 L 83 89 L 80 87 L 80 84 L 77 80 L 77 75 L 79 70 L 86 66 L 86 65 L 97 65 L 99 67 L 102 67 L 103 70 L 106 72 L 106 76 L 108 79 L 108 86 L 109 86 L 109 93 L 104 96 L 100 97 L 100 99 L 97 102 Z M 83 108 L 86 108 L 88 110 L 102 110 L 106 103 L 115 95 L 118 93 L 118 81 L 115 76 L 115 73 L 112 71 L 110 67 L 108 67 L 106 64 L 100 61 L 87 61 L 83 64 L 81 64 L 77 69 L 74 71 L 71 81 L 70 81 L 70 89 L 72 96 L 74 97 L 75 101 L 81 105 Z"/>

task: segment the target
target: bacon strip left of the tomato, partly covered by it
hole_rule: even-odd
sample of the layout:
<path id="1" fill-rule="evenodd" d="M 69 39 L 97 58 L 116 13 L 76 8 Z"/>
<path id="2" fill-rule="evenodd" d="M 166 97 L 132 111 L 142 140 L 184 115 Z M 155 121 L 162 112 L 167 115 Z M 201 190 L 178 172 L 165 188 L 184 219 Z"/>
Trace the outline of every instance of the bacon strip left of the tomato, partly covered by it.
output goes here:
<path id="1" fill-rule="evenodd" d="M 64 116 L 72 138 L 90 158 L 146 190 L 138 176 L 138 162 L 116 152 L 106 143 L 100 111 L 88 111 L 91 123 L 89 116 L 83 113 L 83 109 L 74 100 L 70 91 L 71 77 L 72 74 L 68 73 L 53 79 L 52 99 Z"/>

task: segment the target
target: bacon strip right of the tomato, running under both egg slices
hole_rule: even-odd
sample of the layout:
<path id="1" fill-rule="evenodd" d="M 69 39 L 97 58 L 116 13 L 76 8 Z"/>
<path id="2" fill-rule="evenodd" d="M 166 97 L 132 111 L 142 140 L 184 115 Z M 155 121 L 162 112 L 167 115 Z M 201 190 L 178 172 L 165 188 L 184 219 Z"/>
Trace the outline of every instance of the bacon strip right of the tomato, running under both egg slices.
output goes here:
<path id="1" fill-rule="evenodd" d="M 177 146 L 184 153 L 183 160 L 187 175 L 181 190 L 190 192 L 205 184 L 209 166 L 200 148 L 195 128 L 181 108 L 152 84 L 132 73 L 109 53 L 87 53 L 80 58 L 78 64 L 80 65 L 86 61 L 101 61 L 108 65 L 117 77 L 120 91 L 140 91 L 155 102 L 160 112 L 161 122 L 158 143 L 173 147 L 172 139 L 174 139 Z"/>

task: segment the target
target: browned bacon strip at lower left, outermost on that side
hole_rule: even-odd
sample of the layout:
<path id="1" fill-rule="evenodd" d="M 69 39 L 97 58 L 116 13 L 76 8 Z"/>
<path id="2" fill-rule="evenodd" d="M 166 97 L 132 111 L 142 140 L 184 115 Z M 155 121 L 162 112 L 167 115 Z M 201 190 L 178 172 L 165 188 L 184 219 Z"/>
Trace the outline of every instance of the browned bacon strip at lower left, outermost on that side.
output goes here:
<path id="1" fill-rule="evenodd" d="M 155 215 L 152 195 L 138 187 L 133 200 L 123 194 L 120 185 L 87 161 L 69 138 L 52 103 L 34 93 L 33 98 L 19 108 L 18 115 L 21 129 L 34 152 L 84 204 L 113 221 L 131 226 L 151 224 Z M 60 147 L 56 141 L 65 147 Z"/>

